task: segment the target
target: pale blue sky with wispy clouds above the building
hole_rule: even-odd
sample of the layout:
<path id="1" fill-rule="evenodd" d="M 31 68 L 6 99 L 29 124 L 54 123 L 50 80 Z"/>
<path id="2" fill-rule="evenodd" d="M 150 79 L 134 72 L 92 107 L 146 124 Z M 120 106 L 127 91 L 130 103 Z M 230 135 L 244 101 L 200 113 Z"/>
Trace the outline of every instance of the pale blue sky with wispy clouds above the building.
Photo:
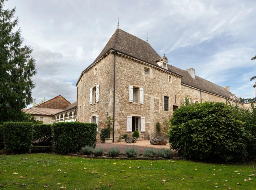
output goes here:
<path id="1" fill-rule="evenodd" d="M 76 101 L 81 72 L 120 29 L 148 42 L 181 69 L 237 97 L 255 97 L 255 0 L 9 0 L 24 44 L 33 48 L 35 102 L 62 95 Z M 27 107 L 31 107 L 28 105 Z"/>

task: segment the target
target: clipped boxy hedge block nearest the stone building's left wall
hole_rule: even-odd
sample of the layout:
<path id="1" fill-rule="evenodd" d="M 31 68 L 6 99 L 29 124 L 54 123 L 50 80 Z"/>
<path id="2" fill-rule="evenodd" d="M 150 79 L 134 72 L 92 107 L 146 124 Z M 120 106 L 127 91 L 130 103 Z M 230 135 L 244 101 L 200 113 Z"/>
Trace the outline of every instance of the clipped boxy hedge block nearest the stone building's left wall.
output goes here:
<path id="1" fill-rule="evenodd" d="M 62 153 L 78 152 L 82 147 L 96 146 L 97 124 L 58 122 L 53 124 L 54 148 Z"/>

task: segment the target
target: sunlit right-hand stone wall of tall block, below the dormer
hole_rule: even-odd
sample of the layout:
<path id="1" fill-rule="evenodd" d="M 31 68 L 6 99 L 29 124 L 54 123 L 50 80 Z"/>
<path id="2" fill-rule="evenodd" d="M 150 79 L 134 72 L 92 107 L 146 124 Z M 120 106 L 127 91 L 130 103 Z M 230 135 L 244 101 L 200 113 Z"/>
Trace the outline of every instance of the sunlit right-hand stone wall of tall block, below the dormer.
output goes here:
<path id="1" fill-rule="evenodd" d="M 149 69 L 149 74 L 144 74 L 144 68 Z M 172 82 L 168 82 L 168 76 Z M 144 104 L 129 102 L 129 85 L 144 89 Z M 115 133 L 114 139 L 118 140 L 126 132 L 126 117 L 145 117 L 146 133 L 156 132 L 156 123 L 169 120 L 173 113 L 173 105 L 180 105 L 182 99 L 181 78 L 145 66 L 131 59 L 116 57 L 116 103 L 115 103 Z M 175 102 L 176 95 L 176 102 Z M 169 97 L 169 111 L 164 111 L 164 96 Z M 124 113 L 123 113 L 124 112 Z M 141 130 L 141 126 L 140 126 Z M 140 136 L 144 133 L 140 132 Z"/>

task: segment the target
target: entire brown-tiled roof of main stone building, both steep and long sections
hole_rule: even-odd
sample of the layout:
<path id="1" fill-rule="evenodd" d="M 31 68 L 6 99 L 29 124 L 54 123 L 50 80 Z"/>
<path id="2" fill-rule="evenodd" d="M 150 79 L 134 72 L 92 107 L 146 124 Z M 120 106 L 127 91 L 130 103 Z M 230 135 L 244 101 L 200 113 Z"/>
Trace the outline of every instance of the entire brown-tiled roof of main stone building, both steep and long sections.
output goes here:
<path id="1" fill-rule="evenodd" d="M 145 61 L 147 63 L 156 65 L 156 66 L 158 66 L 156 62 L 161 58 L 161 56 L 159 56 L 156 53 L 156 51 L 151 47 L 151 45 L 148 42 L 142 39 L 139 39 L 138 37 L 133 36 L 121 29 L 117 29 L 114 32 L 114 34 L 109 39 L 106 46 L 101 51 L 100 55 L 96 58 L 95 61 L 97 61 L 110 49 L 120 51 L 121 53 L 127 54 L 131 57 L 140 59 L 142 61 Z M 188 86 L 191 86 L 206 92 L 210 92 L 216 95 L 220 95 L 229 99 L 231 99 L 230 96 L 233 96 L 233 94 L 229 92 L 227 89 L 224 89 L 219 85 L 211 83 L 210 81 L 207 81 L 199 76 L 196 76 L 195 79 L 192 78 L 190 74 L 185 70 L 179 69 L 172 65 L 168 65 L 168 70 L 170 72 L 177 73 L 183 76 L 181 78 L 181 83 L 183 84 L 186 84 Z M 79 77 L 79 80 L 80 80 L 80 77 Z"/>

